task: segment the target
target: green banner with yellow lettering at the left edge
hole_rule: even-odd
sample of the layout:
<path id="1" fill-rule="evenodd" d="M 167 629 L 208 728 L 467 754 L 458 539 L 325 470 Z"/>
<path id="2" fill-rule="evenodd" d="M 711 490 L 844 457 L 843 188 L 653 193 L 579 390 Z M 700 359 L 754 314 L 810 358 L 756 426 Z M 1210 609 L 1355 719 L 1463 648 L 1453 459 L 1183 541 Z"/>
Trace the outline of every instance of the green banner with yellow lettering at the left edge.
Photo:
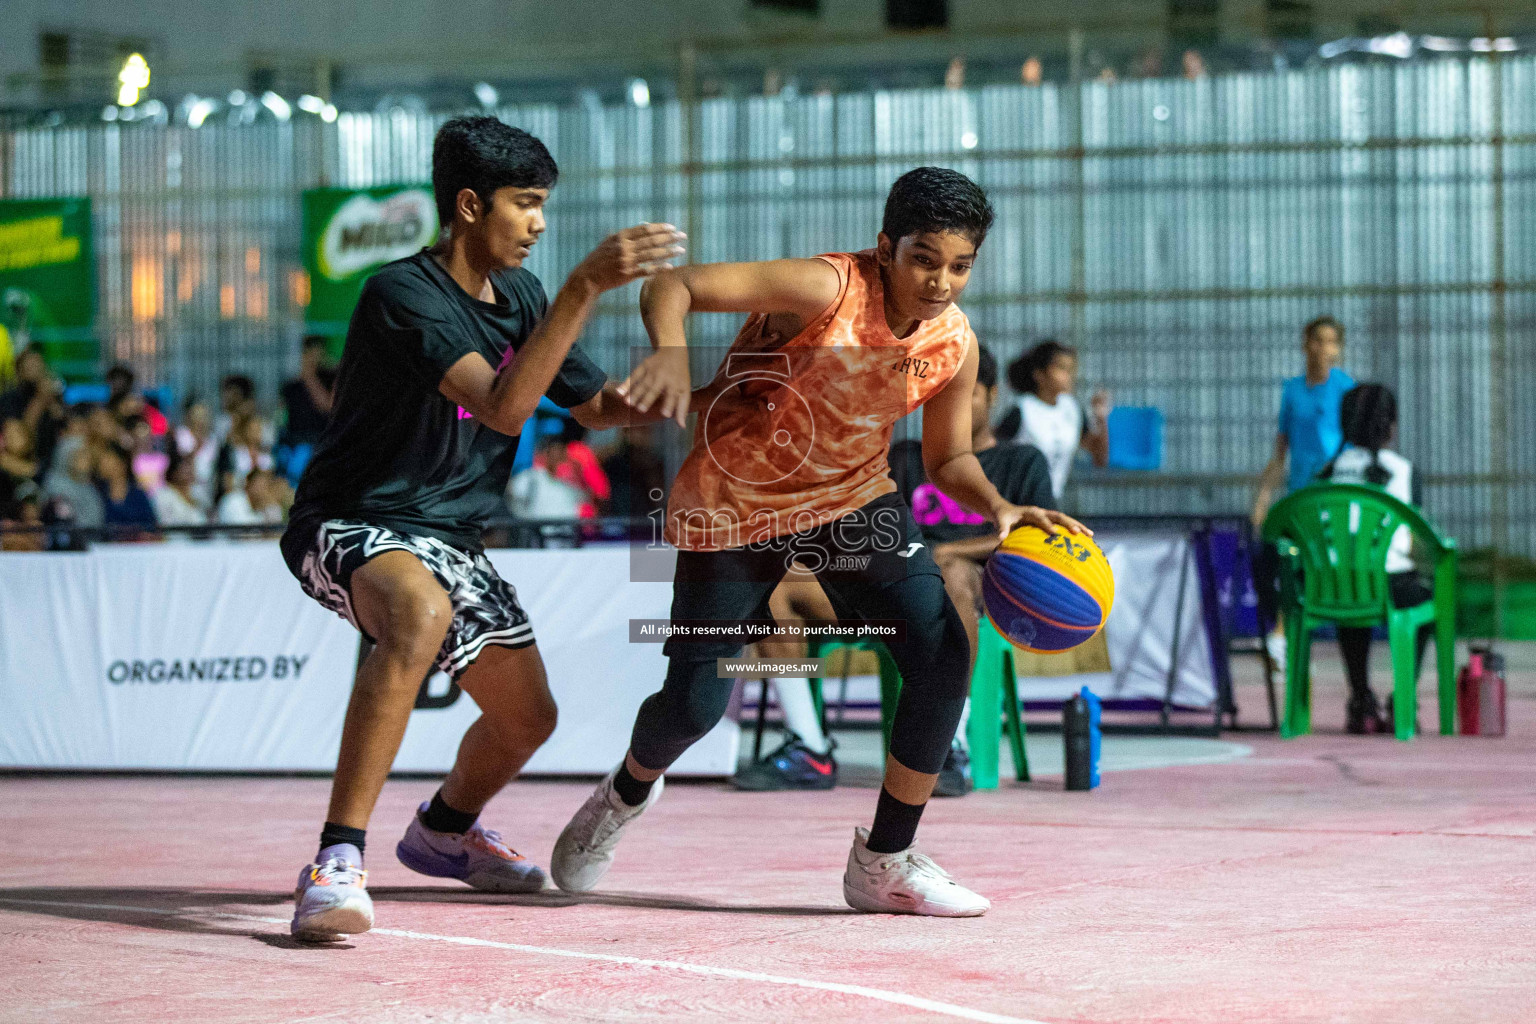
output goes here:
<path id="1" fill-rule="evenodd" d="M 0 375 L 28 342 L 55 372 L 97 370 L 91 200 L 0 200 Z"/>

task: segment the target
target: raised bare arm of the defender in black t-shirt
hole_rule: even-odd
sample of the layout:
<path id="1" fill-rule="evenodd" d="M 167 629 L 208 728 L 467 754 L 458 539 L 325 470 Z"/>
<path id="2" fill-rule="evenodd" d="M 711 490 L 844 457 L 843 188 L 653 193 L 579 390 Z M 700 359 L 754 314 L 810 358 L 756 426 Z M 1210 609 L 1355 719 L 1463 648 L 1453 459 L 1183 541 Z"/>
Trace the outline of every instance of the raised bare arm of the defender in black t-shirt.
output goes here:
<path id="1" fill-rule="evenodd" d="M 671 224 L 639 224 L 610 235 L 571 270 L 511 362 L 496 372 L 484 356 L 470 353 L 449 367 L 438 390 L 492 430 L 522 433 L 598 307 L 598 296 L 671 269 L 670 261 L 682 253 L 682 238 Z"/>

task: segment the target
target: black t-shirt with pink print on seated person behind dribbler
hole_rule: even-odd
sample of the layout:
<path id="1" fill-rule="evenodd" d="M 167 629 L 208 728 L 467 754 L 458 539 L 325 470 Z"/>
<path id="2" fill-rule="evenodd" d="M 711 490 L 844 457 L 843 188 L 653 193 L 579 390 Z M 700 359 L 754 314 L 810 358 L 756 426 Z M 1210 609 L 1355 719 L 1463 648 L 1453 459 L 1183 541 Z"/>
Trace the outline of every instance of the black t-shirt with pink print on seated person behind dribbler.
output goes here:
<path id="1" fill-rule="evenodd" d="M 1026 444 L 997 444 L 975 453 L 982 471 L 997 493 L 1015 505 L 1055 508 L 1051 494 L 1051 468 L 1040 450 Z M 943 494 L 928 482 L 923 471 L 923 444 L 902 441 L 891 445 L 891 479 L 902 497 L 912 507 L 912 516 L 929 543 L 968 540 L 995 534 L 997 528 L 982 516 Z"/>

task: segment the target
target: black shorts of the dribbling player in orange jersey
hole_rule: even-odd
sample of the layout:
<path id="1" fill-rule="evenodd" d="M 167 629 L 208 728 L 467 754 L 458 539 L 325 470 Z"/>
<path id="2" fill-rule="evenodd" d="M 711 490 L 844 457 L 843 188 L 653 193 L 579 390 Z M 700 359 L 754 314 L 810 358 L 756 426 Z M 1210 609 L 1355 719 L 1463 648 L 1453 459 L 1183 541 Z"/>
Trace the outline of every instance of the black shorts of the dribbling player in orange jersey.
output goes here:
<path id="1" fill-rule="evenodd" d="M 833 522 L 776 537 L 760 545 L 723 551 L 679 551 L 673 582 L 673 622 L 771 620 L 768 597 L 797 565 L 826 591 L 839 622 L 866 617 L 865 606 L 880 605 L 897 616 L 906 602 L 869 600 L 872 590 L 903 590 L 912 577 L 942 576 L 912 510 L 900 494 L 885 494 Z M 919 633 L 931 623 L 911 623 Z M 668 639 L 662 651 L 690 659 L 731 657 L 740 640 Z"/>

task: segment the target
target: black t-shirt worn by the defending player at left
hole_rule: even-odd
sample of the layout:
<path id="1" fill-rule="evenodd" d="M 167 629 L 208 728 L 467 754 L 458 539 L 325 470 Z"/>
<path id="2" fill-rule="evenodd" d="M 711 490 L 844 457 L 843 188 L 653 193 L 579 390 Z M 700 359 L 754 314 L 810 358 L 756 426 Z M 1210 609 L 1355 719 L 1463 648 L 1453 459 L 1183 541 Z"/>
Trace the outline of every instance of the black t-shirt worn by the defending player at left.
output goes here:
<path id="1" fill-rule="evenodd" d="M 502 493 L 518 439 L 482 425 L 438 384 L 472 352 L 501 367 L 548 309 L 539 279 L 521 267 L 493 273 L 492 286 L 496 302 L 472 298 L 425 250 L 369 278 L 290 533 L 326 519 L 361 519 L 481 550 L 485 520 L 507 510 Z M 570 408 L 605 382 L 571 348 L 547 395 Z"/>

